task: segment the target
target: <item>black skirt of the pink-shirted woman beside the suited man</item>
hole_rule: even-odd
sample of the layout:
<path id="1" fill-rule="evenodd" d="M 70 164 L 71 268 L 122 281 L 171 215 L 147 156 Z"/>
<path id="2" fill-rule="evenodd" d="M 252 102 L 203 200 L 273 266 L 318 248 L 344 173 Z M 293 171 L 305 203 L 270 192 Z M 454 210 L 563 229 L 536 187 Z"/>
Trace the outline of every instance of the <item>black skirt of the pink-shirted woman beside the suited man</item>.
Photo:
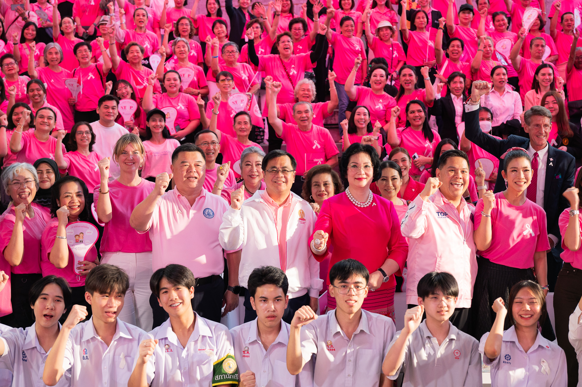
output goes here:
<path id="1" fill-rule="evenodd" d="M 491 309 L 493 302 L 501 297 L 507 304 L 509 291 L 514 284 L 526 279 L 531 281 L 536 281 L 536 279 L 531 268 L 520 269 L 504 266 L 483 257 L 477 257 L 477 265 L 477 278 L 475 278 L 473 300 L 471 300 L 471 320 L 474 322 L 471 335 L 480 340 L 485 332 L 491 331 L 495 321 L 496 313 Z M 509 329 L 511 325 L 508 317 L 505 319 L 503 329 Z M 556 339 L 549 317 L 546 317 L 542 324 L 542 336 L 549 341 Z"/>

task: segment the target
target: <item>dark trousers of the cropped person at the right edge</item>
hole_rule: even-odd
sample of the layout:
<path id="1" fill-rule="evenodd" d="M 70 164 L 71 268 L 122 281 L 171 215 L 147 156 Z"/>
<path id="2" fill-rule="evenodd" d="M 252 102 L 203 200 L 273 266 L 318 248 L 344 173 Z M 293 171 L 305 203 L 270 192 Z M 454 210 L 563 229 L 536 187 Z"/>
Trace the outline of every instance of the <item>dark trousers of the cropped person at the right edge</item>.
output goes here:
<path id="1" fill-rule="evenodd" d="M 582 297 L 582 270 L 564 263 L 556 289 L 553 293 L 553 313 L 556 319 L 556 338 L 558 345 L 566 353 L 566 365 L 568 370 L 568 386 L 576 387 L 578 384 L 578 360 L 576 351 L 568 340 L 568 322 L 570 314 L 576 309 Z"/>

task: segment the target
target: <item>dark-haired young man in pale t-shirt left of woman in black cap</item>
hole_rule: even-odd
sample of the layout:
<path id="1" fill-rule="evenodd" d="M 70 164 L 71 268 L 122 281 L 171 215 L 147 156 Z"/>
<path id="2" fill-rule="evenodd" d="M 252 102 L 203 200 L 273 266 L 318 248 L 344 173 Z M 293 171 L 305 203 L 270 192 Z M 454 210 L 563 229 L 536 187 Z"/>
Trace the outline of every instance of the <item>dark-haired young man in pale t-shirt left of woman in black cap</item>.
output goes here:
<path id="1" fill-rule="evenodd" d="M 91 128 L 95 133 L 95 144 L 93 150 L 102 157 L 113 159 L 113 147 L 119 137 L 127 133 L 127 129 L 115 122 L 118 114 L 119 98 L 115 95 L 105 94 L 97 102 L 97 113 L 99 121 L 91 123 Z M 139 130 L 134 130 L 139 135 Z M 118 178 L 120 174 L 119 165 L 111 163 L 109 166 L 109 176 Z"/>

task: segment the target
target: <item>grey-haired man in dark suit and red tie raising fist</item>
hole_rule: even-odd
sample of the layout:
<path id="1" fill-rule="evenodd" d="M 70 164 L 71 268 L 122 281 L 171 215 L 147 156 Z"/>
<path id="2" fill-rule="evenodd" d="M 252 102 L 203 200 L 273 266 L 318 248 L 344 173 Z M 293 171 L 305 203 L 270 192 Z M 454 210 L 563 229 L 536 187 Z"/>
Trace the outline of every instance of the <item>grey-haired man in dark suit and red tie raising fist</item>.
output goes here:
<path id="1" fill-rule="evenodd" d="M 558 218 L 569 203 L 562 193 L 574 185 L 576 162 L 572 155 L 549 145 L 548 138 L 552 130 L 552 114 L 542 106 L 532 106 L 524 113 L 524 130 L 529 139 L 510 135 L 507 139 L 498 139 L 481 131 L 479 126 L 479 101 L 481 95 L 491 89 L 486 81 L 474 81 L 471 100 L 465 106 L 465 136 L 475 145 L 492 155 L 502 156 L 511 148 L 527 150 L 531 157 L 531 184 L 527 188 L 527 198 L 542 207 L 548 219 L 548 239 L 552 248 L 548 252 L 548 285 L 553 292 L 558 272 L 562 266 L 560 259 L 560 229 Z M 497 175 L 495 192 L 505 189 L 501 173 Z M 480 187 L 477 187 L 479 189 Z M 556 249 L 557 248 L 557 249 Z"/>

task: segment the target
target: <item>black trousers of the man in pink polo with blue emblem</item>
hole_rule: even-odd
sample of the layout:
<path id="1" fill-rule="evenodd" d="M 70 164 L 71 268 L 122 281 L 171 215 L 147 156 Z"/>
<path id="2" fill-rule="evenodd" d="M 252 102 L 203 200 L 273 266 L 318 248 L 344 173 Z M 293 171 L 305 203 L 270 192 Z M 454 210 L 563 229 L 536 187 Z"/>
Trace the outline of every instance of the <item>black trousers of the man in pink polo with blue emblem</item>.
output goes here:
<path id="1" fill-rule="evenodd" d="M 194 298 L 191 300 L 192 309 L 200 317 L 220 322 L 224 292 L 224 280 L 221 277 L 210 284 L 196 286 L 194 288 Z M 159 306 L 158 297 L 154 293 L 151 293 L 150 296 L 150 306 L 154 311 L 154 325 L 152 328 L 159 327 L 164 321 L 168 320 L 169 315 L 164 308 Z"/>

